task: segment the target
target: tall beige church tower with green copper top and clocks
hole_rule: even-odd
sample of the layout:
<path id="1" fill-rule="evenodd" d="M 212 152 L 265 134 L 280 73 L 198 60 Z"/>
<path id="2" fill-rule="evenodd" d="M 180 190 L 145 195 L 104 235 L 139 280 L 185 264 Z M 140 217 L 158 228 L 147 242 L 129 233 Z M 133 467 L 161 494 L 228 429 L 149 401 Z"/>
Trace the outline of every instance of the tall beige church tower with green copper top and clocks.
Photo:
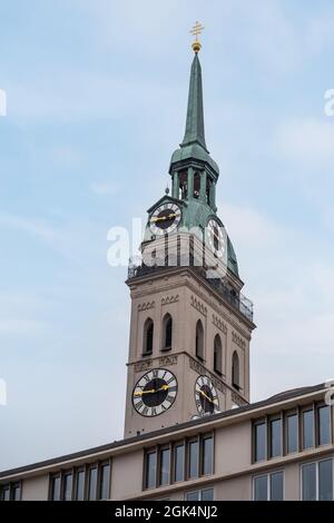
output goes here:
<path id="1" fill-rule="evenodd" d="M 242 295 L 237 258 L 217 216 L 219 168 L 205 140 L 196 28 L 171 195 L 148 209 L 143 258 L 129 267 L 125 437 L 249 402 L 253 305 Z"/>

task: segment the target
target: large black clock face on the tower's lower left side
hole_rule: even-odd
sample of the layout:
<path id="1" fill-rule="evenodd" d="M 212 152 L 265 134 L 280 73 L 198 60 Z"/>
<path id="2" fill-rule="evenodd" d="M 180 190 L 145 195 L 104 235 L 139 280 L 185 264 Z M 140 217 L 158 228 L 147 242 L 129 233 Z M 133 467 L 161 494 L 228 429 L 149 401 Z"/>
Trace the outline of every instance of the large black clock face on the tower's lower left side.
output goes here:
<path id="1" fill-rule="evenodd" d="M 132 392 L 135 409 L 145 417 L 164 414 L 177 395 L 177 379 L 165 368 L 154 368 L 141 376 Z"/>

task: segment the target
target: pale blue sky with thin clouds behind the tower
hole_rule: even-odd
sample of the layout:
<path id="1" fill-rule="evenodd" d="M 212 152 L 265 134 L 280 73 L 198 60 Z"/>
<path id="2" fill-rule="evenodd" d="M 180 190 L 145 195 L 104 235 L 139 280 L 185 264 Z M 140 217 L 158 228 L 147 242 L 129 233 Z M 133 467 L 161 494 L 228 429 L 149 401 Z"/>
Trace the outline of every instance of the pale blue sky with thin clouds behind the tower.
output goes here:
<path id="1" fill-rule="evenodd" d="M 252 398 L 334 376 L 333 2 L 3 1 L 0 470 L 122 435 L 129 296 L 106 237 L 166 187 L 196 19 Z"/>

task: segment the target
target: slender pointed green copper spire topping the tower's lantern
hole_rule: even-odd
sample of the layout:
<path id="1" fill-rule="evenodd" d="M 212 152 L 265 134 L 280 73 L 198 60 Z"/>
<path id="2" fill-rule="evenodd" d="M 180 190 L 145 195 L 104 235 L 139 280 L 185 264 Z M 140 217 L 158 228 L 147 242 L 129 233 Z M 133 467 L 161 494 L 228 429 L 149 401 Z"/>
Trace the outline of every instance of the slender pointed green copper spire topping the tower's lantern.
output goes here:
<path id="1" fill-rule="evenodd" d="M 197 52 L 191 65 L 186 134 L 181 147 L 191 144 L 198 144 L 207 150 L 204 132 L 202 68 Z"/>

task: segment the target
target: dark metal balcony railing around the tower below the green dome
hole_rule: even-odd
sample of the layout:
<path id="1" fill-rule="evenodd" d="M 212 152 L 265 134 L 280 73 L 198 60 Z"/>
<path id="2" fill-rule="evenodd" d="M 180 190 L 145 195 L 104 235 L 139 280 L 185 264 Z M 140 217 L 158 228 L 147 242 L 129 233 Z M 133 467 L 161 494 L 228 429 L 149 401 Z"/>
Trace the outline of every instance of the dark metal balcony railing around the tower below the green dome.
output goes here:
<path id="1" fill-rule="evenodd" d="M 154 265 L 151 267 L 144 265 L 141 263 L 130 262 L 128 268 L 128 279 L 140 278 L 147 275 L 154 275 L 160 273 L 161 270 L 168 270 L 173 267 L 170 266 L 159 266 Z M 245 316 L 249 322 L 253 322 L 253 302 L 246 298 L 242 293 L 228 287 L 223 279 L 220 278 L 207 278 L 206 270 L 204 267 L 190 266 L 190 269 L 199 274 L 206 279 L 206 282 L 236 310 L 238 310 L 243 316 Z"/>

